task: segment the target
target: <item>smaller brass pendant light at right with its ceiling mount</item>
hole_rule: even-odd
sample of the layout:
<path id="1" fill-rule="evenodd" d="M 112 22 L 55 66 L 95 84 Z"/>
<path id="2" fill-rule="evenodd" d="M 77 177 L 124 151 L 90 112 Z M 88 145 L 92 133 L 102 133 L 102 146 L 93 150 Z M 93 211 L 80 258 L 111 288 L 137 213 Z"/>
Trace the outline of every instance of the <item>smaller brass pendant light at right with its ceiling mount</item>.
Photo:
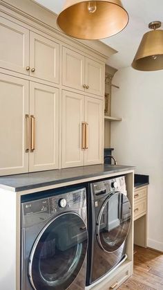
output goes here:
<path id="1" fill-rule="evenodd" d="M 138 71 L 159 71 L 163 69 L 163 30 L 160 21 L 151 22 L 148 27 L 153 29 L 145 33 L 133 60 L 133 69 Z"/>

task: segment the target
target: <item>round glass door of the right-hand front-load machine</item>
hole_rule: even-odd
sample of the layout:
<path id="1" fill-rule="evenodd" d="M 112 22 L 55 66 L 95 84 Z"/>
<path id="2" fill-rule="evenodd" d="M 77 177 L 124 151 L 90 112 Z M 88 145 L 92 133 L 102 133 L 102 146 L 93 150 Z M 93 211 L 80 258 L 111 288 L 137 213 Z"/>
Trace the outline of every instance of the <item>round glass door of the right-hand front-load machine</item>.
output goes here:
<path id="1" fill-rule="evenodd" d="M 108 252 L 117 251 L 128 235 L 131 204 L 125 194 L 115 192 L 103 203 L 97 219 L 99 246 Z"/>

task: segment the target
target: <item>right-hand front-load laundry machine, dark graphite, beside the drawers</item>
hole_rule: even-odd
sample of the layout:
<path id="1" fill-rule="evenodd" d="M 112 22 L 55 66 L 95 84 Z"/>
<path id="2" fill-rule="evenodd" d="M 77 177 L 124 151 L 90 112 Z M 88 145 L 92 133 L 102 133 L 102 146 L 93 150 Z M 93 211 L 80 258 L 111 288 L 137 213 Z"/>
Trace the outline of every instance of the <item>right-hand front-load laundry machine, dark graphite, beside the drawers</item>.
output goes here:
<path id="1" fill-rule="evenodd" d="M 126 259 L 131 204 L 127 197 L 125 176 L 90 183 L 88 214 L 86 286 L 104 277 Z"/>

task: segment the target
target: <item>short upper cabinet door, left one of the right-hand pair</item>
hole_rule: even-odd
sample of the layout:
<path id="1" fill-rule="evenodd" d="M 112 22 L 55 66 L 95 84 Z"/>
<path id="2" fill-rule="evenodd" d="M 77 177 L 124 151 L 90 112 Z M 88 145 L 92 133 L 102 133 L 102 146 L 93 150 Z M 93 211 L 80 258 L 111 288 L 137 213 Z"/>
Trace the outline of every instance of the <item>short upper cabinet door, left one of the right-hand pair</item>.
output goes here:
<path id="1" fill-rule="evenodd" d="M 62 84 L 73 89 L 84 91 L 85 57 L 63 47 Z"/>

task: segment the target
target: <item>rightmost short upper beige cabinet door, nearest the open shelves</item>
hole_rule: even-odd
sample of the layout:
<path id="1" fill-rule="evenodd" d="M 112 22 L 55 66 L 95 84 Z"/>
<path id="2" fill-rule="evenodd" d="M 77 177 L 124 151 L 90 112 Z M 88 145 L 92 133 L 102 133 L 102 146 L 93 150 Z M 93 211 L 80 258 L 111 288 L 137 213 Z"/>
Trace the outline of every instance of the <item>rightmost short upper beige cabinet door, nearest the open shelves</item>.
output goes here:
<path id="1" fill-rule="evenodd" d="M 98 96 L 104 96 L 104 64 L 86 57 L 85 84 L 88 86 L 86 91 Z"/>

